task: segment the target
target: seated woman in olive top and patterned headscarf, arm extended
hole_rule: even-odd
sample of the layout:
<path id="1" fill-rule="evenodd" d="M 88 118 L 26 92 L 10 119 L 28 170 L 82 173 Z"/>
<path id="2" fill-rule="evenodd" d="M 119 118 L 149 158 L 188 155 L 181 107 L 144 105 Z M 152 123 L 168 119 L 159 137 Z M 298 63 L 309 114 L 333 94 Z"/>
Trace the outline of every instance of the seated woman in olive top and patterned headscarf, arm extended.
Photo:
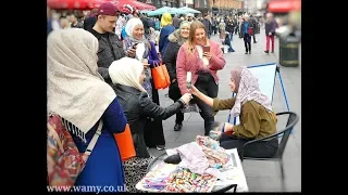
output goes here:
<path id="1" fill-rule="evenodd" d="M 276 116 L 272 112 L 271 102 L 259 89 L 258 79 L 244 66 L 231 72 L 231 91 L 236 98 L 228 100 L 211 99 L 192 86 L 191 93 L 217 110 L 231 109 L 231 117 L 239 116 L 240 123 L 225 125 L 225 132 L 220 138 L 221 146 L 237 148 L 253 139 L 261 139 L 276 132 Z M 244 155 L 248 157 L 272 157 L 277 152 L 278 141 L 259 142 L 246 146 Z"/>

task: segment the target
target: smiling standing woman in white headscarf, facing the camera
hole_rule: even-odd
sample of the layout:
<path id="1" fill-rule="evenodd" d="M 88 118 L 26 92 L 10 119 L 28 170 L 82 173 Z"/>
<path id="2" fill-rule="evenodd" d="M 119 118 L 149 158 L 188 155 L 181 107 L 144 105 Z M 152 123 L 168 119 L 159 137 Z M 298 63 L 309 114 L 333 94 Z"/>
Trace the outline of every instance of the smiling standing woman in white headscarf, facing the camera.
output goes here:
<path id="1" fill-rule="evenodd" d="M 156 64 L 160 64 L 159 56 L 157 54 L 157 50 L 154 47 L 154 43 L 151 41 L 148 41 L 144 36 L 144 25 L 142 22 L 139 18 L 130 18 L 126 26 L 125 31 L 127 34 L 127 37 L 125 38 L 125 50 L 129 52 L 135 53 L 135 49 L 132 49 L 133 47 L 138 49 L 142 49 L 145 52 L 142 56 L 135 56 L 135 58 L 141 61 L 144 64 L 149 64 L 149 67 L 146 68 L 146 78 L 142 83 L 142 87 L 148 92 L 150 99 L 158 105 L 160 105 L 160 96 L 158 90 L 154 88 L 153 80 L 151 78 L 151 72 L 150 68 L 153 68 Z M 142 48 L 139 48 L 142 47 Z M 128 55 L 128 56 L 132 56 Z M 162 120 L 154 119 L 149 122 L 147 122 L 147 129 L 148 131 L 145 134 L 145 142 L 148 147 L 157 147 L 158 150 L 164 150 L 165 148 L 165 139 L 163 133 L 163 125 Z"/>

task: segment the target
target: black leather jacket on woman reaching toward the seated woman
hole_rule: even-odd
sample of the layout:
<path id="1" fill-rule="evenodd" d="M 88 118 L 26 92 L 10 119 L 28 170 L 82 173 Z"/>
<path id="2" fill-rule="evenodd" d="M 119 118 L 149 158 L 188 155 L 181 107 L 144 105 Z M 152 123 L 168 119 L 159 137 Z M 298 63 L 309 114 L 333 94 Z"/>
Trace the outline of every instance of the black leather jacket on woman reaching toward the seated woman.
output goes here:
<path id="1" fill-rule="evenodd" d="M 146 92 L 140 92 L 138 89 L 122 84 L 115 84 L 113 89 L 127 118 L 137 157 L 150 157 L 144 139 L 146 122 L 151 118 L 167 119 L 179 112 L 184 103 L 177 101 L 163 108 L 153 103 Z"/>

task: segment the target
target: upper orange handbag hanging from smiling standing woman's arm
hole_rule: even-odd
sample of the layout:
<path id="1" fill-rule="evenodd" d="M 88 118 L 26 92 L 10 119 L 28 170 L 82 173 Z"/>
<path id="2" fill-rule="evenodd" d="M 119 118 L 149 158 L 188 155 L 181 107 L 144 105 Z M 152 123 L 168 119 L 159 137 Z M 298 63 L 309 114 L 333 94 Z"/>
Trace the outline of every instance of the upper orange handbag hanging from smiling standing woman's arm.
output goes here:
<path id="1" fill-rule="evenodd" d="M 159 64 L 154 62 L 154 67 L 151 68 L 151 75 L 156 89 L 165 89 L 171 84 L 166 67 L 162 63 Z"/>

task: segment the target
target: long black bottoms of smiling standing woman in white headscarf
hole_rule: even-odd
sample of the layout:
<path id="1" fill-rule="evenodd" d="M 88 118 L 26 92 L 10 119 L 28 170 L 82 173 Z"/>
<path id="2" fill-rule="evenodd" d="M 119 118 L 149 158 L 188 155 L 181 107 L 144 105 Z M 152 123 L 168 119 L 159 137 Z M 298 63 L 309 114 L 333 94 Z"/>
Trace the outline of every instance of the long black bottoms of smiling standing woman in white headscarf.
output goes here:
<path id="1" fill-rule="evenodd" d="M 160 105 L 159 91 L 152 86 L 152 102 Z M 148 147 L 156 147 L 157 145 L 165 145 L 162 119 L 148 119 L 144 132 L 145 143 Z"/>

